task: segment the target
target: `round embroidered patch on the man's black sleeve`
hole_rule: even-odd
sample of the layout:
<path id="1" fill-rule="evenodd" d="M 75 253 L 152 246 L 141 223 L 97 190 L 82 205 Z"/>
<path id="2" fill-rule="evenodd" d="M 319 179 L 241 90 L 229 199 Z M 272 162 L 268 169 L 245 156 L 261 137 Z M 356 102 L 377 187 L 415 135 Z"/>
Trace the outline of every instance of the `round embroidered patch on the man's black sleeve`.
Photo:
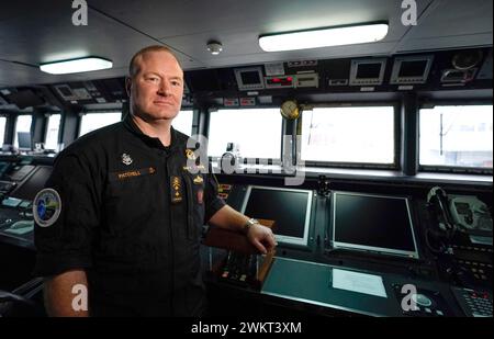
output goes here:
<path id="1" fill-rule="evenodd" d="M 33 216 L 41 227 L 55 224 L 61 212 L 61 199 L 54 189 L 43 189 L 34 197 Z"/>

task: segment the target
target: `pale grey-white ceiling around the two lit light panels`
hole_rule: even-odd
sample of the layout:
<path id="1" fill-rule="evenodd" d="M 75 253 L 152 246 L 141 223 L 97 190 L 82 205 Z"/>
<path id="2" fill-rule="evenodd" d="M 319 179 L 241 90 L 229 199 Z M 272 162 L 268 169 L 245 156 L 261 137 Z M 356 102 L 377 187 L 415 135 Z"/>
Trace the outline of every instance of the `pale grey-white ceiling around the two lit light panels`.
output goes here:
<path id="1" fill-rule="evenodd" d="M 416 0 L 418 25 L 401 23 L 401 0 L 88 0 L 87 26 L 74 26 L 71 0 L 8 1 L 0 9 L 0 87 L 124 76 L 132 55 L 150 44 L 172 47 L 184 69 L 266 61 L 392 55 L 492 46 L 492 0 Z M 261 34 L 389 21 L 379 43 L 265 53 Z M 224 50 L 205 47 L 217 39 Z M 96 55 L 111 70 L 69 76 L 42 63 Z"/>

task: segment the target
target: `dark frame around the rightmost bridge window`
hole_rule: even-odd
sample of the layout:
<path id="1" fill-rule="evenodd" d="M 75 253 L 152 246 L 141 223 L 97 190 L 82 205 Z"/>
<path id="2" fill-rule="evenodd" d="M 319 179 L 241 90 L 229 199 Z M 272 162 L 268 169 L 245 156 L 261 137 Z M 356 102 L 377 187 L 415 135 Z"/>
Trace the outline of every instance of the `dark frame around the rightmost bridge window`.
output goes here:
<path id="1" fill-rule="evenodd" d="M 417 110 L 417 173 L 450 173 L 450 174 L 480 174 L 492 176 L 493 169 L 482 167 L 460 167 L 441 165 L 420 165 L 420 111 L 423 109 L 434 109 L 435 106 L 473 106 L 473 105 L 493 105 L 492 100 L 422 100 Z"/>

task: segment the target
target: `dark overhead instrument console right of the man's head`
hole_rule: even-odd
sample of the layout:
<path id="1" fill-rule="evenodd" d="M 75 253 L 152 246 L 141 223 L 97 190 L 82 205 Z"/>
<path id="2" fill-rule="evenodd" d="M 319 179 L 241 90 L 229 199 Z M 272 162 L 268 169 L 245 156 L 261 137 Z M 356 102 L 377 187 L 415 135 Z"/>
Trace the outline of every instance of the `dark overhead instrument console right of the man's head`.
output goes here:
<path id="1" fill-rule="evenodd" d="M 216 106 L 251 106 L 278 103 L 279 98 L 318 93 L 491 89 L 491 59 L 492 48 L 474 48 L 288 60 L 186 71 L 186 81 L 191 98 L 209 100 Z"/>

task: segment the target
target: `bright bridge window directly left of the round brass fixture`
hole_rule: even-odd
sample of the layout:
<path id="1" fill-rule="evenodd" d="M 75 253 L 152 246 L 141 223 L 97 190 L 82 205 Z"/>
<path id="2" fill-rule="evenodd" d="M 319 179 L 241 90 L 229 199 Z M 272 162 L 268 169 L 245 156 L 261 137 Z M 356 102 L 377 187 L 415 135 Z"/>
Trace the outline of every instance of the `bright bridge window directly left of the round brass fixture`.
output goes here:
<path id="1" fill-rule="evenodd" d="M 239 144 L 244 158 L 281 158 L 280 109 L 211 112 L 207 155 L 221 157 L 228 143 Z"/>

